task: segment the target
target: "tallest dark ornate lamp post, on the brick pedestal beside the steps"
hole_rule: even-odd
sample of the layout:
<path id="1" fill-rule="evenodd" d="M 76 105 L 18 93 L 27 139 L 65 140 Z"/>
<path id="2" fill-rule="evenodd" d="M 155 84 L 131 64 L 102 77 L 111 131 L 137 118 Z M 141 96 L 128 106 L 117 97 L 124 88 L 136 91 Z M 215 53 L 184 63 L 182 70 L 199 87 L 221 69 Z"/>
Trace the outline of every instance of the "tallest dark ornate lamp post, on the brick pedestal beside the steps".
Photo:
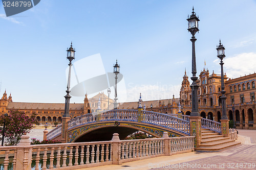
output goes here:
<path id="1" fill-rule="evenodd" d="M 198 29 L 198 17 L 195 15 L 194 12 L 194 7 L 193 7 L 193 12 L 190 15 L 189 18 L 187 18 L 188 21 L 188 31 L 192 34 L 192 37 L 190 41 L 192 42 L 192 75 L 191 80 L 193 83 L 190 85 L 191 87 L 191 93 L 192 93 L 192 111 L 191 111 L 191 116 L 200 116 L 200 113 L 198 112 L 198 103 L 197 103 L 197 91 L 198 91 L 198 85 L 197 85 L 197 66 L 196 66 L 196 52 L 195 52 L 195 42 L 196 42 L 196 37 L 195 34 L 199 31 Z"/>

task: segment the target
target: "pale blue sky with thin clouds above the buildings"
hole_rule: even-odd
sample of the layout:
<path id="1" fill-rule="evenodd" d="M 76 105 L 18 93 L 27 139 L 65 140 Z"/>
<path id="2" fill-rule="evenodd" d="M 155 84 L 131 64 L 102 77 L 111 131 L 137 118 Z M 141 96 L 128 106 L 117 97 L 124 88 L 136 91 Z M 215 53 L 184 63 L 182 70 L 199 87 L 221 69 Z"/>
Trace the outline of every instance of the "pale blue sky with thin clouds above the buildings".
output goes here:
<path id="1" fill-rule="evenodd" d="M 200 19 L 197 76 L 204 67 L 210 74 L 213 70 L 220 74 L 216 50 L 220 39 L 226 48 L 227 77 L 253 74 L 256 1 L 41 0 L 9 17 L 0 4 L 0 93 L 6 89 L 14 102 L 65 103 L 66 50 L 72 41 L 74 62 L 100 54 L 109 73 L 118 60 L 123 76 L 118 102 L 137 101 L 139 93 L 144 101 L 169 99 L 173 94 L 179 98 L 185 68 L 191 77 L 186 19 L 193 6 Z M 97 63 L 88 65 L 93 64 L 97 68 Z M 84 94 L 72 96 L 70 102 L 83 103 L 83 98 Z"/>

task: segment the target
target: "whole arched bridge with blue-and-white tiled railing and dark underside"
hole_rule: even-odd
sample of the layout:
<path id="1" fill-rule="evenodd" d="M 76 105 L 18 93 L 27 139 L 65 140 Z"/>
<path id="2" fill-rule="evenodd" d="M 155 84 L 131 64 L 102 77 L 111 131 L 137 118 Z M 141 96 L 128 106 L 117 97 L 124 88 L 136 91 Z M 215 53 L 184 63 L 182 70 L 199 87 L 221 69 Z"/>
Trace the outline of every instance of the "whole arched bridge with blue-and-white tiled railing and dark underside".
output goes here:
<path id="1" fill-rule="evenodd" d="M 120 139 L 136 131 L 155 137 L 168 132 L 169 137 L 189 136 L 189 116 L 168 115 L 146 110 L 117 109 L 85 114 L 68 122 L 67 142 Z M 47 134 L 47 139 L 60 139 L 61 125 Z"/>

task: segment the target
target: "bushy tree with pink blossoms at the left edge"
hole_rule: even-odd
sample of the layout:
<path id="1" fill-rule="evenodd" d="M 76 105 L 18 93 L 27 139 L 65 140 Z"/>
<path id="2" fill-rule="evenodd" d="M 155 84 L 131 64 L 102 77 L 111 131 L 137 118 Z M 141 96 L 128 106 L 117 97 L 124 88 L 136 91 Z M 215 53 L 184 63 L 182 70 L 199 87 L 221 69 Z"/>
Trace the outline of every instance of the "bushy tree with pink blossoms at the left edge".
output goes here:
<path id="1" fill-rule="evenodd" d="M 5 142 L 7 145 L 17 145 L 20 137 L 24 133 L 29 133 L 36 123 L 36 114 L 33 113 L 31 116 L 27 116 L 24 111 L 10 110 L 8 116 L 2 114 L 0 116 L 0 125 L 5 127 Z M 0 128 L 0 133 L 2 134 L 3 127 Z M 2 137 L 1 137 L 2 140 Z"/>

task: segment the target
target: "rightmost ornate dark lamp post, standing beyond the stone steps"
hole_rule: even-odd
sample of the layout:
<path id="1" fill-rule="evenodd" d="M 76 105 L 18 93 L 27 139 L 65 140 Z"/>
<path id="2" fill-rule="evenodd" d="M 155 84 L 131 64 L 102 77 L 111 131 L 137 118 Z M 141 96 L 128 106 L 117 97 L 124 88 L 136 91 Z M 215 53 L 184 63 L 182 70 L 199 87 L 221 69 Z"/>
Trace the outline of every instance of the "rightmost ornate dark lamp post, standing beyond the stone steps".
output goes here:
<path id="1" fill-rule="evenodd" d="M 221 103 L 222 103 L 222 116 L 221 119 L 228 119 L 227 118 L 227 113 L 226 113 L 226 99 L 227 97 L 225 96 L 225 85 L 224 85 L 224 75 L 223 75 L 223 58 L 226 57 L 225 56 L 225 48 L 224 46 L 221 44 L 221 40 L 220 40 L 220 44 L 219 46 L 217 45 L 217 57 L 221 60 L 220 65 L 221 65 L 221 93 L 222 96 L 220 97 L 221 99 Z"/>

